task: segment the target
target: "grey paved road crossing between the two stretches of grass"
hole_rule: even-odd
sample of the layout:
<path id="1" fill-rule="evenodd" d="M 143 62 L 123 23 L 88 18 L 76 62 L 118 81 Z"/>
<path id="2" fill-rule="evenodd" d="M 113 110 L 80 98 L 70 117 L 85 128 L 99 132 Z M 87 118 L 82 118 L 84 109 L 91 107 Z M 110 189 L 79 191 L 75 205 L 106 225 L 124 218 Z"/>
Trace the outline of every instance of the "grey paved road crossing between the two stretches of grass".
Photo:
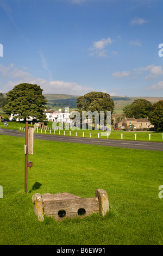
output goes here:
<path id="1" fill-rule="evenodd" d="M 25 137 L 24 132 L 16 130 L 1 129 L 0 133 L 3 135 Z M 1 137 L 0 137 L 1 138 Z M 46 135 L 34 133 L 34 139 L 42 139 L 45 141 L 60 141 L 60 142 L 71 142 L 71 143 L 82 143 L 91 145 L 101 145 L 106 147 L 118 147 L 118 148 L 130 148 L 130 149 L 146 149 L 163 151 L 162 142 L 141 142 L 141 141 L 125 141 L 121 139 L 96 139 L 96 138 L 83 138 L 83 137 L 69 137 L 60 135 Z"/>

